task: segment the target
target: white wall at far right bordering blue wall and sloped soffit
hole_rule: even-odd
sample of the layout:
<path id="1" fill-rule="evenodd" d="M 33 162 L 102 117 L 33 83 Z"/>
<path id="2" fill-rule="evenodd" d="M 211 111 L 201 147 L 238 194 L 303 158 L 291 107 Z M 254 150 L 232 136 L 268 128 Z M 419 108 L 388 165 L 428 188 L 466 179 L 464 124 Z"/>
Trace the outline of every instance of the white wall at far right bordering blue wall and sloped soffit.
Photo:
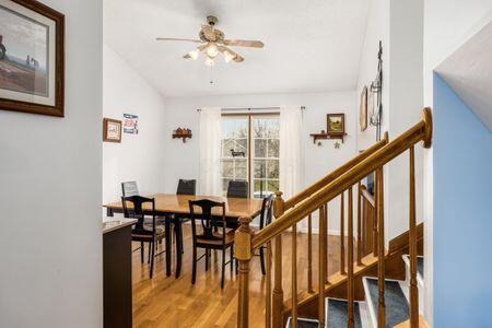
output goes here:
<path id="1" fill-rule="evenodd" d="M 491 21 L 491 0 L 426 0 L 424 5 L 424 104 L 433 106 L 433 72 L 460 45 Z M 434 231 L 433 149 L 424 151 L 425 309 L 433 326 Z"/>

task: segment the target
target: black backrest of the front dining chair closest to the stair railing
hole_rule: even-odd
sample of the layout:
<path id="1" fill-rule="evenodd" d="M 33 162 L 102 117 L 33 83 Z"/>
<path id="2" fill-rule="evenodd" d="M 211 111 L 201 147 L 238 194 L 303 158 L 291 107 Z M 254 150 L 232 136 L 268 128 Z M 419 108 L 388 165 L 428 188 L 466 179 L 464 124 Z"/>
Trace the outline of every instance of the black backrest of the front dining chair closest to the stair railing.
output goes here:
<path id="1" fill-rule="evenodd" d="M 199 211 L 196 211 L 199 208 Z M 214 208 L 220 208 L 222 211 L 212 213 Z M 210 199 L 190 200 L 189 213 L 191 216 L 191 232 L 194 236 L 194 244 L 197 238 L 209 241 L 222 241 L 225 244 L 225 202 L 216 202 Z M 199 234 L 197 225 L 201 223 L 202 233 Z M 214 233 L 215 227 L 222 226 L 222 233 Z"/>

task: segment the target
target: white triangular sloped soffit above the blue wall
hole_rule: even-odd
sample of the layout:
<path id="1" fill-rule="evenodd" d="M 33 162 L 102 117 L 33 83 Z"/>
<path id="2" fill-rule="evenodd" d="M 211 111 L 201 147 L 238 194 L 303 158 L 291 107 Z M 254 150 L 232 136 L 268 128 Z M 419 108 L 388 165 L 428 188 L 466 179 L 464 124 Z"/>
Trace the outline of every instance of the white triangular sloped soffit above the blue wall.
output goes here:
<path id="1" fill-rule="evenodd" d="M 492 131 L 492 22 L 436 69 L 467 106 Z"/>

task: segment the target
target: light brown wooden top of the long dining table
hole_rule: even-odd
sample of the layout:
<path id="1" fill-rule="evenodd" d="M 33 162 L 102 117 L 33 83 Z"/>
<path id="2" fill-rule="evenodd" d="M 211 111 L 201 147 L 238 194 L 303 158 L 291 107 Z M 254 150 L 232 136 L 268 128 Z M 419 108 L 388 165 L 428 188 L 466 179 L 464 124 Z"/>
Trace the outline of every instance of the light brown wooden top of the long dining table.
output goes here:
<path id="1" fill-rule="evenodd" d="M 155 211 L 160 213 L 180 213 L 189 214 L 189 200 L 210 199 L 213 201 L 225 202 L 225 216 L 227 218 L 241 218 L 249 216 L 255 218 L 261 212 L 261 199 L 249 198 L 225 198 L 213 196 L 194 196 L 194 195 L 168 195 L 156 194 L 149 196 L 149 198 L 155 198 Z M 104 204 L 105 208 L 113 210 L 122 210 L 121 201 Z M 128 206 L 131 209 L 131 204 Z M 145 203 L 143 210 L 150 210 L 149 203 Z M 197 211 L 198 212 L 198 211 Z M 222 214 L 220 209 L 215 209 L 212 213 Z"/>

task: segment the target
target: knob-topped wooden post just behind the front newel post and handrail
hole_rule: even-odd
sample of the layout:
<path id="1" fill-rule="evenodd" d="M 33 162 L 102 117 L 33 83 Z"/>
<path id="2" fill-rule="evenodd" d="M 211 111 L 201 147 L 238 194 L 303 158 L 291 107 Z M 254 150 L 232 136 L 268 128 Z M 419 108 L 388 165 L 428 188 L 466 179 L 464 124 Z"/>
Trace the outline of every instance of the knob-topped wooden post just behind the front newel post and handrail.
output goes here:
<path id="1" fill-rule="evenodd" d="M 282 192 L 276 192 L 273 201 L 273 214 L 279 218 L 284 212 L 284 200 Z M 273 294 L 272 294 L 272 326 L 273 328 L 283 327 L 283 289 L 282 289 L 282 234 L 276 237 L 276 248 L 273 255 Z"/>

